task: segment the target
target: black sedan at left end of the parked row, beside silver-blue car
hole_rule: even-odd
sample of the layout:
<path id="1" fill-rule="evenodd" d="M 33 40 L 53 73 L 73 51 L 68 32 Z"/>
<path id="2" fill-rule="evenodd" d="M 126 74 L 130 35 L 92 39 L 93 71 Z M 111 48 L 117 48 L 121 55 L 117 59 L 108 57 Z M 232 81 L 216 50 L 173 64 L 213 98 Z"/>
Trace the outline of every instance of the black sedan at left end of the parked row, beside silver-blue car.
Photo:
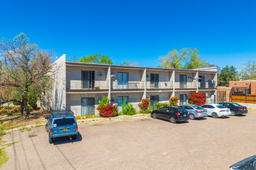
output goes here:
<path id="1" fill-rule="evenodd" d="M 172 123 L 177 121 L 188 121 L 189 114 L 187 110 L 181 107 L 161 107 L 158 110 L 153 110 L 151 112 L 152 118 L 161 118 Z"/>

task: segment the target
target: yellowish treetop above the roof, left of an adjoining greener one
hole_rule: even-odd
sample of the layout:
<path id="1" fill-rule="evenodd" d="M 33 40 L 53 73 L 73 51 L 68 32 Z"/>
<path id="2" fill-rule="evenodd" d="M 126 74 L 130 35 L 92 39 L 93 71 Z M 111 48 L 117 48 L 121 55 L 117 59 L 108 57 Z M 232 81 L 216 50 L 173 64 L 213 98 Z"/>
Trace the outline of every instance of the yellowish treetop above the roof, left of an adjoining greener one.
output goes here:
<path id="1" fill-rule="evenodd" d="M 159 57 L 159 65 L 158 67 L 164 68 L 182 68 L 182 61 L 187 58 L 187 50 L 186 48 L 181 49 L 180 52 L 176 49 L 168 52 L 165 56 Z"/>

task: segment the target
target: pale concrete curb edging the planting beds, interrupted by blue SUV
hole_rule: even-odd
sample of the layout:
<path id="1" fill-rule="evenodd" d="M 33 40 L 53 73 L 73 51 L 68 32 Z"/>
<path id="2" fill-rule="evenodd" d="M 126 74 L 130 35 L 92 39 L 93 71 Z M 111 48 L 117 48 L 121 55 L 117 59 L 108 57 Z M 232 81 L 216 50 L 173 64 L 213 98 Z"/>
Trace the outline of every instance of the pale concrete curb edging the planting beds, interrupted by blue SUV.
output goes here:
<path id="1" fill-rule="evenodd" d="M 112 117 L 112 118 L 87 118 L 87 119 L 80 119 L 80 120 L 76 120 L 77 124 L 81 124 L 81 123 L 97 123 L 97 122 L 104 122 L 104 121 L 121 121 L 121 120 L 126 120 L 129 118 L 150 118 L 150 114 L 135 114 L 132 116 L 129 115 L 121 115 L 121 116 L 117 116 L 117 117 Z M 33 128 L 36 126 L 44 126 L 46 125 L 45 123 L 41 123 L 41 124 L 32 124 L 32 125 L 25 125 L 25 126 L 20 126 L 19 128 L 11 128 L 9 130 L 7 130 L 5 132 L 9 133 L 9 132 L 14 132 L 17 130 L 20 130 L 21 128 Z"/>

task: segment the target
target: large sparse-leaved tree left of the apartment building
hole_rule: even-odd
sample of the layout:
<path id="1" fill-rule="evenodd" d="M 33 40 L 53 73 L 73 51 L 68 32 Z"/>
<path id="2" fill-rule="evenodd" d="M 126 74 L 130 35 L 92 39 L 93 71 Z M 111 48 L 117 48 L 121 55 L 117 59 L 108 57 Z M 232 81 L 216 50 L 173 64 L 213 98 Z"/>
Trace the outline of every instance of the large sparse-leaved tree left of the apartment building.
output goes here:
<path id="1" fill-rule="evenodd" d="M 21 114 L 29 114 L 29 99 L 39 98 L 42 92 L 50 89 L 52 54 L 31 44 L 21 33 L 13 40 L 0 42 L 0 86 L 5 91 L 12 89 L 6 102 L 20 103 Z M 37 94 L 36 96 L 34 96 Z"/>

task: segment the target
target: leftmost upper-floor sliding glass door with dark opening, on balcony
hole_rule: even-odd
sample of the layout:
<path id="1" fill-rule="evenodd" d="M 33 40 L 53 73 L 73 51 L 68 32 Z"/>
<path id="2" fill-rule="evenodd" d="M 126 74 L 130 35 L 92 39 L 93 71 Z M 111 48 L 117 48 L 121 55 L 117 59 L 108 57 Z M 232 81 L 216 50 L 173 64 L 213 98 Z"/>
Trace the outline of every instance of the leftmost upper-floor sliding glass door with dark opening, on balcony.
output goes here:
<path id="1" fill-rule="evenodd" d="M 83 89 L 95 88 L 95 71 L 82 71 Z"/>

